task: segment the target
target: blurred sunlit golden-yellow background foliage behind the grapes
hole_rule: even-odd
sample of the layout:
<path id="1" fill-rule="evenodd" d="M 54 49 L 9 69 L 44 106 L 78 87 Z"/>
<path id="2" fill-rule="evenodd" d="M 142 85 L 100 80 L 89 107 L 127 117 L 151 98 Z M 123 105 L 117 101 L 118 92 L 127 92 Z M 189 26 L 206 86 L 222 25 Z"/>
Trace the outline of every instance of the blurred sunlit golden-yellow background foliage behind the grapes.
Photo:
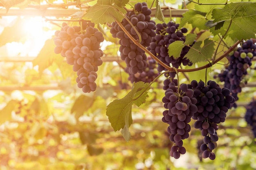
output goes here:
<path id="1" fill-rule="evenodd" d="M 38 2 L 23 0 L 15 9 L 38 6 Z M 55 3 L 48 0 L 41 4 L 47 2 Z M 166 3 L 182 7 L 175 0 Z M 167 124 L 162 122 L 161 77 L 152 85 L 146 103 L 132 108 L 132 139 L 126 142 L 121 132 L 114 132 L 106 116 L 106 106 L 124 97 L 132 86 L 123 69 L 125 63 L 117 57 L 118 40 L 112 38 L 106 26 L 98 25 L 105 32 L 105 62 L 97 72 L 97 90 L 84 94 L 76 87 L 72 66 L 54 53 L 53 35 L 62 21 L 49 19 L 68 18 L 17 15 L 0 19 L 0 170 L 256 169 L 256 141 L 244 120 L 245 106 L 256 90 L 255 61 L 248 77 L 251 86 L 243 88 L 238 108 L 231 109 L 225 123 L 219 125 L 216 159 L 202 160 L 198 156 L 202 137 L 192 128 L 189 139 L 184 140 L 187 153 L 174 160 L 169 157 L 172 143 Z M 179 22 L 180 18 L 175 20 Z M 202 36 L 208 35 L 206 31 Z M 208 79 L 213 79 L 223 64 L 227 60 L 209 69 Z M 180 81 L 189 82 L 188 77 L 204 79 L 204 73 L 181 73 Z"/>

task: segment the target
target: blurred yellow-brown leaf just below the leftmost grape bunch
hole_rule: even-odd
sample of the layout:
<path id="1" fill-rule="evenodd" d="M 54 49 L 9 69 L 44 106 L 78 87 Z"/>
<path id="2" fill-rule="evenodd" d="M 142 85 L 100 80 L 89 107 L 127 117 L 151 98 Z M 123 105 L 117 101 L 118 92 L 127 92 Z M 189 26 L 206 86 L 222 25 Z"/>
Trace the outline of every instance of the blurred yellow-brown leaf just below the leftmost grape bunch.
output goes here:
<path id="1" fill-rule="evenodd" d="M 76 120 L 87 111 L 94 103 L 95 97 L 89 97 L 86 95 L 80 95 L 74 102 L 71 113 L 75 113 Z"/>

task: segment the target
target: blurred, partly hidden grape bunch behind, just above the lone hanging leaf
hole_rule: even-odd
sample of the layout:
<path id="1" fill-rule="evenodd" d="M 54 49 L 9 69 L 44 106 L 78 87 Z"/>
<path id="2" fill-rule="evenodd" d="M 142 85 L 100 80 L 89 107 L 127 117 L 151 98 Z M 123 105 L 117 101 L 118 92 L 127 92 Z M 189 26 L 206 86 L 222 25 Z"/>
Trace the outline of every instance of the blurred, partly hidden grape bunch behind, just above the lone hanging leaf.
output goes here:
<path id="1" fill-rule="evenodd" d="M 130 74 L 128 68 L 126 68 L 126 72 L 129 74 L 128 80 L 130 82 L 145 82 L 150 83 L 159 75 L 157 71 L 157 62 L 151 58 L 147 58 L 147 67 L 144 69 L 142 73 Z"/>

